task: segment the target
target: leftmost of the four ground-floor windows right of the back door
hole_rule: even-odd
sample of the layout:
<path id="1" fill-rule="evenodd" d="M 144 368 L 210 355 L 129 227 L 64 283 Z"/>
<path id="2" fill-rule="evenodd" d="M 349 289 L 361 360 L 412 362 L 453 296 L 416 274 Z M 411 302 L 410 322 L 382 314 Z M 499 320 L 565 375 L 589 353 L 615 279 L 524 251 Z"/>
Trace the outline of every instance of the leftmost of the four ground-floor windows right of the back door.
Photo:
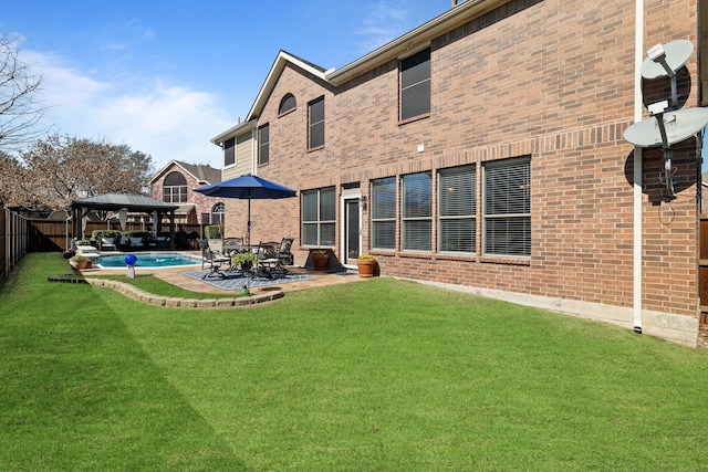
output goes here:
<path id="1" fill-rule="evenodd" d="M 372 181 L 372 248 L 396 249 L 396 178 Z"/>

